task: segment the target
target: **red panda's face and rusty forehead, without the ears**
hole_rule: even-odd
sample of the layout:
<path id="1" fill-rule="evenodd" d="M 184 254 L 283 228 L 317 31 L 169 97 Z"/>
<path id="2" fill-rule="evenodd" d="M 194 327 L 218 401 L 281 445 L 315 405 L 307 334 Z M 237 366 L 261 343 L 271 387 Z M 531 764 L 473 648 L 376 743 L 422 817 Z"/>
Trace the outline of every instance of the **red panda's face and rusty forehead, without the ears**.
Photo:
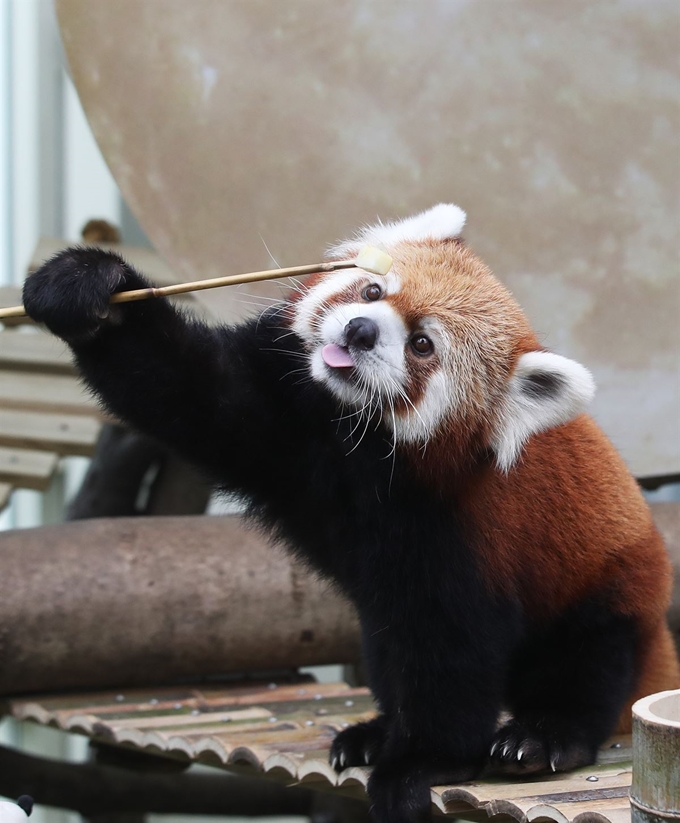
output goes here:
<path id="1" fill-rule="evenodd" d="M 312 376 L 380 412 L 402 442 L 447 422 L 483 424 L 530 329 L 510 295 L 457 241 L 402 243 L 380 277 L 324 275 L 295 307 Z"/>

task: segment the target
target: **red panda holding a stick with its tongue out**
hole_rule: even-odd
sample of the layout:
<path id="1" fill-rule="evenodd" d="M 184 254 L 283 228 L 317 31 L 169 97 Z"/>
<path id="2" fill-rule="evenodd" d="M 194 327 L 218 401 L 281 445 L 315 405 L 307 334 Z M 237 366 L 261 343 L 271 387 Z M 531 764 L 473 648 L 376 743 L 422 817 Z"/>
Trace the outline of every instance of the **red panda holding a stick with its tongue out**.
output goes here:
<path id="1" fill-rule="evenodd" d="M 680 684 L 670 563 L 580 364 L 545 351 L 442 204 L 361 230 L 384 277 L 312 276 L 233 328 L 142 288 L 116 255 L 62 253 L 26 283 L 90 387 L 240 494 L 359 613 L 379 714 L 335 738 L 373 765 L 379 823 L 429 787 L 593 762 L 643 694 Z M 501 711 L 511 719 L 499 725 Z"/>

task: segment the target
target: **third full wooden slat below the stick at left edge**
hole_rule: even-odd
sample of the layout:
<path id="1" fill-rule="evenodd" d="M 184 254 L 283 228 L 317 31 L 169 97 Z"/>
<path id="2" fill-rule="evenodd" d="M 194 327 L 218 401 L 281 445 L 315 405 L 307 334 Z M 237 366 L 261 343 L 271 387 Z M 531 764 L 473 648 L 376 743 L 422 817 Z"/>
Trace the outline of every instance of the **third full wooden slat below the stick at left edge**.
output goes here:
<path id="1" fill-rule="evenodd" d="M 94 451 L 101 427 L 99 419 L 80 414 L 0 408 L 0 446 L 88 456 Z"/>

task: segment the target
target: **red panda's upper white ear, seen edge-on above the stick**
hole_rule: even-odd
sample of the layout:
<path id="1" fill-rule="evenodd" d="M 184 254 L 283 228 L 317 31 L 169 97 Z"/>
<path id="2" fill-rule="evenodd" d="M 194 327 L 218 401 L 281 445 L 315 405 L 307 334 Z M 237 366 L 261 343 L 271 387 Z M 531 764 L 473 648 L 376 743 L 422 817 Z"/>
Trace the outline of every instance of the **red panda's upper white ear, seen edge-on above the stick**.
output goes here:
<path id="1" fill-rule="evenodd" d="M 333 246 L 328 256 L 351 257 L 365 245 L 389 248 L 403 242 L 452 240 L 460 236 L 464 225 L 465 212 L 461 208 L 454 206 L 453 203 L 440 203 L 438 206 L 404 220 L 365 226 L 354 237 Z"/>

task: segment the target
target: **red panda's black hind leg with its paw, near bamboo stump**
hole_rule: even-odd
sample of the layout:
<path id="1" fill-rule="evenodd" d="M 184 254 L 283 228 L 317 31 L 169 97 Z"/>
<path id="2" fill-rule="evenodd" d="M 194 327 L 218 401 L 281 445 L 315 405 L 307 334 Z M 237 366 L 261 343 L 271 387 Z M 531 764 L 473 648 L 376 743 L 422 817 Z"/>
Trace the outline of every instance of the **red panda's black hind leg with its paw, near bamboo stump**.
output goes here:
<path id="1" fill-rule="evenodd" d="M 513 663 L 509 708 L 491 766 L 509 774 L 567 771 L 595 761 L 633 686 L 635 628 L 604 601 L 571 609 Z"/>

